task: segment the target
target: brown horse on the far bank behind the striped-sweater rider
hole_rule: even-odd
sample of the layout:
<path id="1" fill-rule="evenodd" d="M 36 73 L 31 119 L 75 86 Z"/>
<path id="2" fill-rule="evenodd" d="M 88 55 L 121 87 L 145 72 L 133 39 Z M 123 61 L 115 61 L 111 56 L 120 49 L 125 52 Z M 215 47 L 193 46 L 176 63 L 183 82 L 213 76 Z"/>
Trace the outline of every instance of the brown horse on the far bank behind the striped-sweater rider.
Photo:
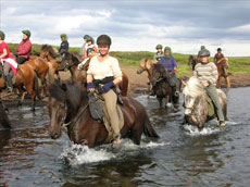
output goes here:
<path id="1" fill-rule="evenodd" d="M 225 78 L 225 83 L 226 83 L 226 90 L 228 91 L 230 88 L 230 80 L 227 74 L 227 70 L 229 68 L 229 64 L 228 64 L 228 59 L 227 58 L 222 58 L 221 60 L 218 60 L 217 62 L 215 62 L 216 66 L 217 66 L 217 73 L 218 73 L 218 78 L 217 78 L 217 88 L 222 87 L 222 77 Z"/>

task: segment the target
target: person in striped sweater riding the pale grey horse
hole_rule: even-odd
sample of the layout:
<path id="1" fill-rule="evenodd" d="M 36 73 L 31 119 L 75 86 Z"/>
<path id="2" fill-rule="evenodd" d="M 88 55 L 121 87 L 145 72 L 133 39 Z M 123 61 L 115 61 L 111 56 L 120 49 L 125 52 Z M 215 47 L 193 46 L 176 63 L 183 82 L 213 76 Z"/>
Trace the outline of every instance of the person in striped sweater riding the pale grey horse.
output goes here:
<path id="1" fill-rule="evenodd" d="M 216 82 L 217 82 L 217 67 L 213 62 L 209 62 L 210 51 L 203 49 L 200 51 L 200 61 L 201 63 L 197 64 L 193 71 L 193 75 L 201 82 L 203 87 L 207 90 L 209 97 L 213 100 L 215 105 L 216 114 L 218 117 L 220 126 L 224 127 L 225 119 L 222 111 L 222 105 L 218 100 L 216 91 Z"/>

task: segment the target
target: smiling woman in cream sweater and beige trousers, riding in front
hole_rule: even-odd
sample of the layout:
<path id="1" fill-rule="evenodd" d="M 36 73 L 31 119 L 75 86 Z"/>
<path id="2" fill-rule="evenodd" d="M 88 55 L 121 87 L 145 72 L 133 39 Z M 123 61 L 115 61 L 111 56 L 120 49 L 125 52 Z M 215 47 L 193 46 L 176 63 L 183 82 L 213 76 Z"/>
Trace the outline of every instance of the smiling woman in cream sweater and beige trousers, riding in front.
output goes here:
<path id="1" fill-rule="evenodd" d="M 95 88 L 101 86 L 102 97 L 105 102 L 108 114 L 111 121 L 113 134 L 113 147 L 118 148 L 121 144 L 120 120 L 116 112 L 117 95 L 115 94 L 115 85 L 122 82 L 122 71 L 117 59 L 109 54 L 111 38 L 108 35 L 100 35 L 97 39 L 100 54 L 93 57 L 89 63 L 87 71 L 87 89 L 95 91 Z M 98 85 L 96 83 L 99 83 Z"/>

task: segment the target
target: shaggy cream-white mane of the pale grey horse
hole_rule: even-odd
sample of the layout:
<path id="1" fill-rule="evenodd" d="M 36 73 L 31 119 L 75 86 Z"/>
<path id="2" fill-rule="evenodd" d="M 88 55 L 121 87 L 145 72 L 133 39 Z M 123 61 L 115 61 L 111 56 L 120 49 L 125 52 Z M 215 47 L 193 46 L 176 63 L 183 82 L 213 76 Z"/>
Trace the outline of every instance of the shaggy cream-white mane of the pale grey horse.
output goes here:
<path id="1" fill-rule="evenodd" d="M 187 82 L 186 87 L 183 90 L 184 95 L 189 95 L 192 97 L 198 97 L 205 94 L 203 86 L 196 76 L 191 76 Z"/>

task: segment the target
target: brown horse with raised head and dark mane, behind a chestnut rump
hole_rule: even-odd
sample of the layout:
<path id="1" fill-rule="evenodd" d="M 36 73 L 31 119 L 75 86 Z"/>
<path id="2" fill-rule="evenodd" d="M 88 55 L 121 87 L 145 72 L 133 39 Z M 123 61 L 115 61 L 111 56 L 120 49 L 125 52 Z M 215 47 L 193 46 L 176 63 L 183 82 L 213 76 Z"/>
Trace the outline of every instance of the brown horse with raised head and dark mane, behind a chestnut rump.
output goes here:
<path id="1" fill-rule="evenodd" d="M 61 77 L 59 75 L 59 64 L 57 62 L 59 53 L 55 51 L 55 49 L 50 45 L 42 45 L 40 50 L 40 57 L 46 59 L 52 65 L 52 74 L 55 74 L 60 82 Z"/>

